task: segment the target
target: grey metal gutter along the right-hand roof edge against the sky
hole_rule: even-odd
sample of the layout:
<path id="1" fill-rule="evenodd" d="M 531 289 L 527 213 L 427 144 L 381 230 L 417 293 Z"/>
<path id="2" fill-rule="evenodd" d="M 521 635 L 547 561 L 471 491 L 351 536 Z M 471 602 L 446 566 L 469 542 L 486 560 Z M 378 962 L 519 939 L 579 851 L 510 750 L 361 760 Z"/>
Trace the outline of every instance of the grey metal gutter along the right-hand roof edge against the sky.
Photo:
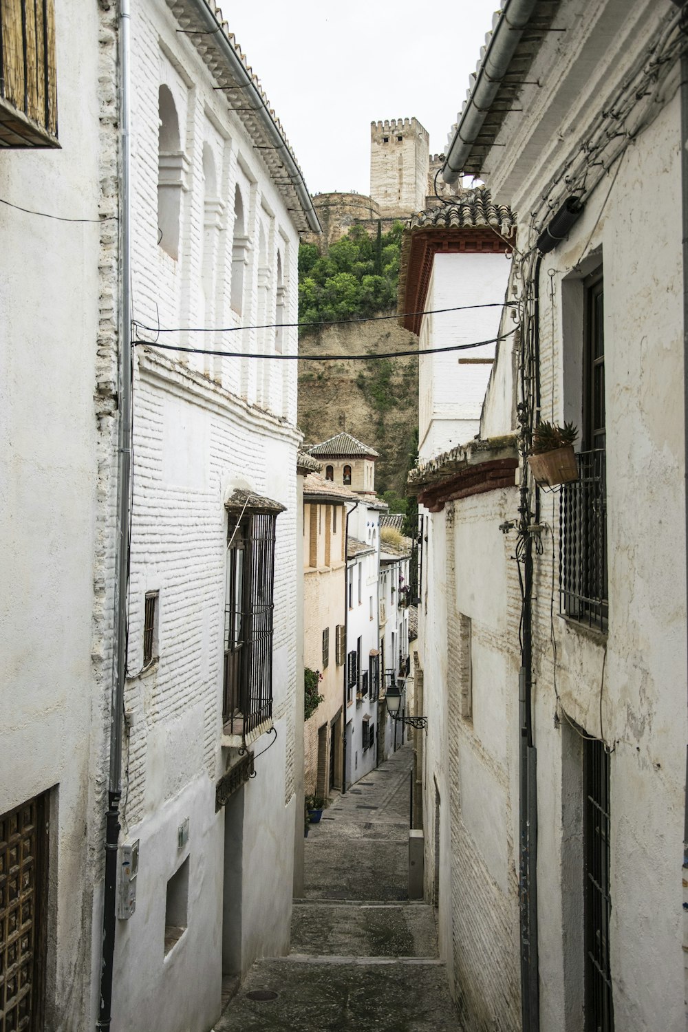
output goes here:
<path id="1" fill-rule="evenodd" d="M 492 101 L 509 71 L 523 31 L 528 25 L 537 0 L 506 0 L 499 21 L 490 37 L 485 57 L 478 70 L 476 85 L 461 114 L 441 167 L 447 184 L 456 183 L 485 124 Z"/>

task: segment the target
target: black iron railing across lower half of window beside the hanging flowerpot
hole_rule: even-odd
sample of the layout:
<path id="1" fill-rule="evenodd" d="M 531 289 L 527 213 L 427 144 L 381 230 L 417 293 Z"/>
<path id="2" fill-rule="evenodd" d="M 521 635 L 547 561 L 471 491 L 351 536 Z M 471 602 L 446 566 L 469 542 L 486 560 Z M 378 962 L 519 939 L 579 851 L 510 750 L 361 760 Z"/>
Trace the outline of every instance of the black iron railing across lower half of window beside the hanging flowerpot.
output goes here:
<path id="1" fill-rule="evenodd" d="M 577 456 L 579 479 L 561 488 L 559 594 L 561 612 L 607 630 L 607 481 L 604 450 Z"/>

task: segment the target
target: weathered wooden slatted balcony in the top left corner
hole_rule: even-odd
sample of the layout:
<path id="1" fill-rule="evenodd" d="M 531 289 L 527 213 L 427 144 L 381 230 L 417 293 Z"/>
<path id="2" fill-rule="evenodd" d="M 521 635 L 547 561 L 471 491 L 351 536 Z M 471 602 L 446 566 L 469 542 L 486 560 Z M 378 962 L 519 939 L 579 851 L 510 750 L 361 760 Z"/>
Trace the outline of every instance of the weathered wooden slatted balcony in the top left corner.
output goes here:
<path id="1" fill-rule="evenodd" d="M 53 0 L 0 0 L 0 146 L 60 146 Z"/>

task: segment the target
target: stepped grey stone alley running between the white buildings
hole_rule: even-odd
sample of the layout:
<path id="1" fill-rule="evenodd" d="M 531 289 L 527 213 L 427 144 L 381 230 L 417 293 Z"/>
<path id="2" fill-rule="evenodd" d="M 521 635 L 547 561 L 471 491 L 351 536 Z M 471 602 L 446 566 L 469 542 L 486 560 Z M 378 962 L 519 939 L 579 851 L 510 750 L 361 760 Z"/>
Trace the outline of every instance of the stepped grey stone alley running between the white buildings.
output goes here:
<path id="1" fill-rule="evenodd" d="M 406 745 L 312 825 L 292 952 L 256 963 L 215 1032 L 459 1029 L 434 912 L 407 898 Z"/>

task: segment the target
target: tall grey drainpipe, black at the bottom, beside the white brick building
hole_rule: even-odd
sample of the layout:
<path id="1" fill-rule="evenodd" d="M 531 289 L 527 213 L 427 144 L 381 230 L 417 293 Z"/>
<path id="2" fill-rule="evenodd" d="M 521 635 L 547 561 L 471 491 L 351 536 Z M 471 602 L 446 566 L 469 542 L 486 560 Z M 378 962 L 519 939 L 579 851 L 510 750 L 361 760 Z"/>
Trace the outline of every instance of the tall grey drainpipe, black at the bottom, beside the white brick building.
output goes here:
<path id="1" fill-rule="evenodd" d="M 130 13 L 120 0 L 120 355 L 118 427 L 118 502 L 116 531 L 114 634 L 110 703 L 110 760 L 105 818 L 105 884 L 98 1032 L 110 1027 L 117 906 L 117 850 L 122 795 L 122 730 L 127 664 L 127 582 L 131 479 L 131 196 L 130 196 Z"/>

